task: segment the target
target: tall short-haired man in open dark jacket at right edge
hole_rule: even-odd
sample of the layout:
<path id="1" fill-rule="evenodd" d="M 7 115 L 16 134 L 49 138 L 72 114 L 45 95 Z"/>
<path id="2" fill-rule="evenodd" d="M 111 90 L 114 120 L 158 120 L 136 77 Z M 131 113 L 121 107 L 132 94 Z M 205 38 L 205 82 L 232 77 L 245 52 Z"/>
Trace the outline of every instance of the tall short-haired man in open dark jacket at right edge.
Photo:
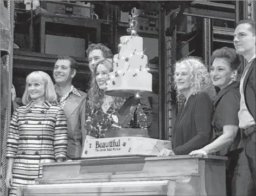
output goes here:
<path id="1" fill-rule="evenodd" d="M 255 21 L 239 21 L 234 32 L 236 53 L 247 60 L 240 81 L 240 110 L 238 112 L 241 128 L 241 147 L 238 166 L 235 169 L 232 195 L 255 195 L 256 189 L 256 68 L 255 68 Z"/>

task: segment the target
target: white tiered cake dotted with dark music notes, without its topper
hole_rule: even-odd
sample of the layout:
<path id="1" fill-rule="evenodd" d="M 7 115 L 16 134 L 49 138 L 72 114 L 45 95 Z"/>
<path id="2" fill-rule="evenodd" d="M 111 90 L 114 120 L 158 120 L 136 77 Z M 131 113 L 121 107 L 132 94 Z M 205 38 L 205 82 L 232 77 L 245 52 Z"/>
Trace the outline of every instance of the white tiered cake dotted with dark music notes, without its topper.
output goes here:
<path id="1" fill-rule="evenodd" d="M 152 74 L 148 73 L 148 56 L 143 54 L 143 38 L 120 37 L 121 49 L 113 58 L 108 90 L 142 90 L 152 92 Z"/>

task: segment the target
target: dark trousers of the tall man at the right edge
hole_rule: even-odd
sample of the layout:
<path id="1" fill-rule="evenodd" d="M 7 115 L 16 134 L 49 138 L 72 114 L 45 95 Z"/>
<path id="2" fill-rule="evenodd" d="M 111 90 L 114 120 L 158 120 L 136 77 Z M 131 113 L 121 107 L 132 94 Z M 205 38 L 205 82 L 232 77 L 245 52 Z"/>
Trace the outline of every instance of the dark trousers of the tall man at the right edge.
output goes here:
<path id="1" fill-rule="evenodd" d="M 240 153 L 238 164 L 235 167 L 232 180 L 232 195 L 255 195 L 256 194 L 256 147 L 255 126 L 241 131 L 239 146 L 244 150 Z"/>

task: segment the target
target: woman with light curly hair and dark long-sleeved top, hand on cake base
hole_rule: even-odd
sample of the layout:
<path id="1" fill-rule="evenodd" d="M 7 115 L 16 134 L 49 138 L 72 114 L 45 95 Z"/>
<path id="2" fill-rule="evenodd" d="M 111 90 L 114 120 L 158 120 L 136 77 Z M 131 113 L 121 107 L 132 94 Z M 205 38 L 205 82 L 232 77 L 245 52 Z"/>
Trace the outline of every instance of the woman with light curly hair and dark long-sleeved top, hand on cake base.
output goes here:
<path id="1" fill-rule="evenodd" d="M 175 88 L 185 96 L 172 134 L 172 150 L 164 148 L 158 156 L 183 155 L 209 143 L 216 94 L 210 75 L 196 57 L 185 57 L 175 64 Z"/>

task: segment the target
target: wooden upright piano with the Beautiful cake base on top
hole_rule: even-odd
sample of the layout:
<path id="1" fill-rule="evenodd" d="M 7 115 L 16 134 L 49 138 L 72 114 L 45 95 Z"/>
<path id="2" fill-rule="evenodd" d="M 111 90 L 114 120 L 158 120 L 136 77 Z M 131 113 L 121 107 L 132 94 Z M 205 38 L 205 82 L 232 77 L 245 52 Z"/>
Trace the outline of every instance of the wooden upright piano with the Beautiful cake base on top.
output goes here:
<path id="1" fill-rule="evenodd" d="M 226 160 L 177 155 L 42 164 L 43 178 L 18 186 L 17 195 L 226 195 Z"/>

